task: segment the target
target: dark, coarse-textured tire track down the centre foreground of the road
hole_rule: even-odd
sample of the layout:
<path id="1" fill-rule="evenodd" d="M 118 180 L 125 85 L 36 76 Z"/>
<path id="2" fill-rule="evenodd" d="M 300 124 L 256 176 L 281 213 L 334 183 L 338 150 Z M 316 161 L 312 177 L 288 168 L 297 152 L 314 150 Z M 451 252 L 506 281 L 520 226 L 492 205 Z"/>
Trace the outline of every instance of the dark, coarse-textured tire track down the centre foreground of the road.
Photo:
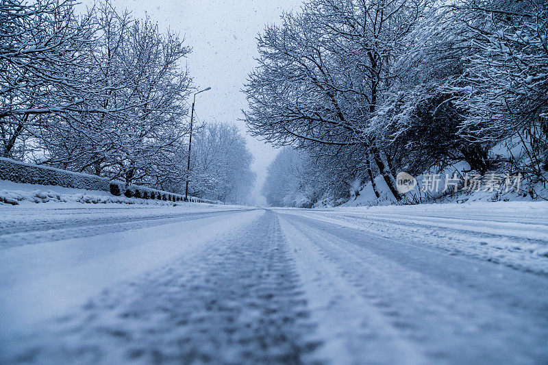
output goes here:
<path id="1" fill-rule="evenodd" d="M 9 360 L 308 362 L 320 343 L 302 294 L 278 218 L 266 212 L 241 234 L 46 323 Z"/>

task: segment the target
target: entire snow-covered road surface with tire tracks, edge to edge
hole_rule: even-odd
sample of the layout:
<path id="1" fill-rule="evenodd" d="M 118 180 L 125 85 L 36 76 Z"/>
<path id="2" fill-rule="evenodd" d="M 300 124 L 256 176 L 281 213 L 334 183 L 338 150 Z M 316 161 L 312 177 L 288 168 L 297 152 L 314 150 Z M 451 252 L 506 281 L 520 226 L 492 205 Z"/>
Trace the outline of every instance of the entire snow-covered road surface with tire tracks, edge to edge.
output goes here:
<path id="1" fill-rule="evenodd" d="M 543 210 L 0 213 L 0 363 L 548 362 Z"/>

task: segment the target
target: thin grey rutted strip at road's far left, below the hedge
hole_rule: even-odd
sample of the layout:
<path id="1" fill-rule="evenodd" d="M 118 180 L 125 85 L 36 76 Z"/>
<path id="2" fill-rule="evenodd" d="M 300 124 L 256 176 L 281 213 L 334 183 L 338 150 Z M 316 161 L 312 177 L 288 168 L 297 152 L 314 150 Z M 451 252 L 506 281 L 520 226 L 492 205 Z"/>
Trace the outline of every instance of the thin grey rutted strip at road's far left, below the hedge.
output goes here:
<path id="1" fill-rule="evenodd" d="M 81 203 L 5 205 L 0 206 L 0 249 L 113 234 L 239 210 L 249 210 L 249 207 L 203 203 L 187 203 L 174 207 Z"/>

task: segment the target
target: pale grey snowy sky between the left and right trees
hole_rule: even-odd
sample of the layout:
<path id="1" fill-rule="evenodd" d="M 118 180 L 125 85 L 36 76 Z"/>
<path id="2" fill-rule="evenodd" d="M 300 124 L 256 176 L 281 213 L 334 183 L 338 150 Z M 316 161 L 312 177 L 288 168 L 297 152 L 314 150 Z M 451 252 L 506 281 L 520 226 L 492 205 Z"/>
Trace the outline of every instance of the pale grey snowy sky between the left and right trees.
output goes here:
<path id="1" fill-rule="evenodd" d="M 149 14 L 160 27 L 184 36 L 192 47 L 186 61 L 195 85 L 212 88 L 197 96 L 198 120 L 234 123 L 245 131 L 245 123 L 238 121 L 247 108 L 240 90 L 256 65 L 256 36 L 267 23 L 279 21 L 282 12 L 298 10 L 301 0 L 112 0 L 112 4 L 127 8 L 136 18 Z M 277 150 L 248 135 L 247 142 L 258 174 L 253 196 L 256 203 L 266 203 L 259 191 Z"/>

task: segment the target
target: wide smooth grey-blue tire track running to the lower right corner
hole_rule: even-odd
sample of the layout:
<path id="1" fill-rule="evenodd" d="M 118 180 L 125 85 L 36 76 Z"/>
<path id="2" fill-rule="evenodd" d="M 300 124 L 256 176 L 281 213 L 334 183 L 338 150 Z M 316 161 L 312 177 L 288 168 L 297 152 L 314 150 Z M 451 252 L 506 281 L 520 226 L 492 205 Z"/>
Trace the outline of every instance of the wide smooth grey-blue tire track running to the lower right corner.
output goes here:
<path id="1" fill-rule="evenodd" d="M 300 216 L 284 218 L 431 362 L 535 363 L 548 357 L 544 277 Z"/>

